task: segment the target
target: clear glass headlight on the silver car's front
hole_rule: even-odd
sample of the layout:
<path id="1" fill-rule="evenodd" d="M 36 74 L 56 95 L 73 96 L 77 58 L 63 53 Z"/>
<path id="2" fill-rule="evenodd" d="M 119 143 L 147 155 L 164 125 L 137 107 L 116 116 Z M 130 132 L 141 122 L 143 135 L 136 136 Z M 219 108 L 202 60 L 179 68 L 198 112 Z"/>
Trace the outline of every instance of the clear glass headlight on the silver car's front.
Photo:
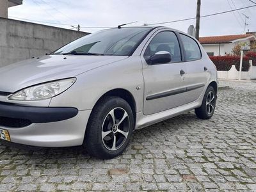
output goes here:
<path id="1" fill-rule="evenodd" d="M 72 84 L 76 82 L 76 78 L 52 81 L 49 83 L 37 84 L 29 88 L 24 88 L 19 92 L 13 93 L 8 99 L 10 100 L 44 100 L 50 99 L 62 92 L 65 92 Z"/>

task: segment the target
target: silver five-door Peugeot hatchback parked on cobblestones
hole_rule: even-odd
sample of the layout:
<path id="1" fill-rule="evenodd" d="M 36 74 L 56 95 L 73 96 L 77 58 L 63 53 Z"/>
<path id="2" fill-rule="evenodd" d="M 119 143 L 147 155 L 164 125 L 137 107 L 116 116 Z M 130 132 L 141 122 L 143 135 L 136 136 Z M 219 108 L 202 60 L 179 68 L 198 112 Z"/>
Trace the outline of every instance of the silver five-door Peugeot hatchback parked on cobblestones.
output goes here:
<path id="1" fill-rule="evenodd" d="M 0 68 L 0 135 L 38 147 L 84 145 L 110 159 L 132 132 L 195 109 L 209 119 L 216 67 L 195 38 L 164 27 L 112 28 Z"/>

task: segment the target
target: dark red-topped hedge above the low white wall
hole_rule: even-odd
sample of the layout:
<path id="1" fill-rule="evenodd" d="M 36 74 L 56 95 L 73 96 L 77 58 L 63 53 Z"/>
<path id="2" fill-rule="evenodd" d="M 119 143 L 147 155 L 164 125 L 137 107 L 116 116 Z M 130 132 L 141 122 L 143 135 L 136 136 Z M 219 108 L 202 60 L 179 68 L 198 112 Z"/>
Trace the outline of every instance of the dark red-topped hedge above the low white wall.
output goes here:
<path id="1" fill-rule="evenodd" d="M 232 65 L 236 66 L 236 69 L 239 70 L 240 67 L 240 56 L 210 56 L 210 59 L 216 66 L 217 70 L 230 70 Z M 250 68 L 249 57 L 244 56 L 242 71 L 248 71 Z"/>

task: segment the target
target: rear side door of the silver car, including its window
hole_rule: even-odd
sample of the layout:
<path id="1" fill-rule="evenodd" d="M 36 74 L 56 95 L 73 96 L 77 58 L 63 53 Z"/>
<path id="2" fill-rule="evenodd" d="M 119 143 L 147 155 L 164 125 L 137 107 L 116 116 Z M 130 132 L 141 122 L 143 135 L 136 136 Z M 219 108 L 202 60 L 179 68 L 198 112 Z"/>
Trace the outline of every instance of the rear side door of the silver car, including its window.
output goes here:
<path id="1" fill-rule="evenodd" d="M 186 103 L 189 103 L 200 97 L 207 85 L 209 73 L 207 63 L 202 59 L 202 52 L 198 43 L 184 34 L 180 34 L 180 39 L 182 40 L 186 59 Z"/>

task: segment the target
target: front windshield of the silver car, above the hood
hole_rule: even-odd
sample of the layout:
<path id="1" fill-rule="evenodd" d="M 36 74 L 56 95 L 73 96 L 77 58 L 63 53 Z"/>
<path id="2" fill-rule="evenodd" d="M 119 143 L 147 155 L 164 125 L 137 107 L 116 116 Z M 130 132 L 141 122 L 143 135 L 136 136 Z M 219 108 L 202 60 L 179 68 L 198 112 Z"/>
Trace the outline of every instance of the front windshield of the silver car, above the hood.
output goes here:
<path id="1" fill-rule="evenodd" d="M 53 54 L 129 56 L 150 28 L 115 28 L 83 36 Z"/>

